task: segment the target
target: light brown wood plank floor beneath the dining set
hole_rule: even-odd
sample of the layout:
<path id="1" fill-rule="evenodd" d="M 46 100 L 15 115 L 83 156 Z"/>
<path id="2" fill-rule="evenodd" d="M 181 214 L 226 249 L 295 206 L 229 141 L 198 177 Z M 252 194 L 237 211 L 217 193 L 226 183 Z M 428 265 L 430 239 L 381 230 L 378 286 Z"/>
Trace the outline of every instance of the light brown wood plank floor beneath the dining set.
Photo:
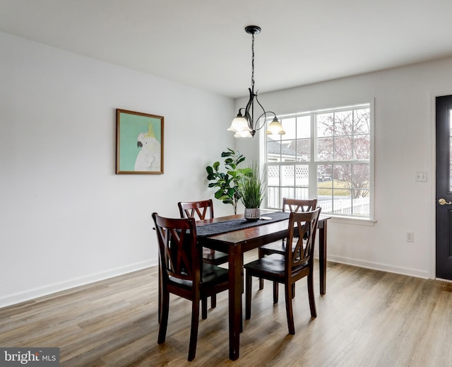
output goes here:
<path id="1" fill-rule="evenodd" d="M 245 261 L 251 260 L 251 253 Z M 0 308 L 0 346 L 59 346 L 61 366 L 452 366 L 452 284 L 328 262 L 327 293 L 311 319 L 306 281 L 287 332 L 283 289 L 253 284 L 240 358 L 230 361 L 227 293 L 201 320 L 188 354 L 191 303 L 170 298 L 165 344 L 157 345 L 157 268 Z"/>

